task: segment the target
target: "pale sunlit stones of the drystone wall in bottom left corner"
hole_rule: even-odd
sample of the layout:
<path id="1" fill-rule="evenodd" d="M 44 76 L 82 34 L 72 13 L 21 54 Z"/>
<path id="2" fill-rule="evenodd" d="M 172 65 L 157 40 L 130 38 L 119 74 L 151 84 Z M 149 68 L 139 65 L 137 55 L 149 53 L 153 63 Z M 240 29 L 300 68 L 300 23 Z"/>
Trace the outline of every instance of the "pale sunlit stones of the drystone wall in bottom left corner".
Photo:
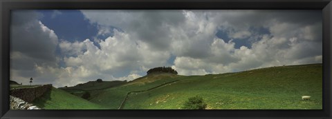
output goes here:
<path id="1" fill-rule="evenodd" d="M 10 96 L 10 109 L 41 109 L 33 104 L 30 104 L 20 98 Z"/>

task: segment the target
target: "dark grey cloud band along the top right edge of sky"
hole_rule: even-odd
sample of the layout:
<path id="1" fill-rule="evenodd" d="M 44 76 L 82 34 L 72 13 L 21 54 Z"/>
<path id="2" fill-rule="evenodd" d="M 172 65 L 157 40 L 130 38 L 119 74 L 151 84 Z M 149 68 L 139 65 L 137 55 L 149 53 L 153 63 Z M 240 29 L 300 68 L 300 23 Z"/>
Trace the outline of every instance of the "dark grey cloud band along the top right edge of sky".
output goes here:
<path id="1" fill-rule="evenodd" d="M 228 21 L 234 28 L 261 26 L 271 20 L 308 25 L 322 19 L 320 10 L 212 10 L 212 13 L 217 16 L 216 21 Z"/>

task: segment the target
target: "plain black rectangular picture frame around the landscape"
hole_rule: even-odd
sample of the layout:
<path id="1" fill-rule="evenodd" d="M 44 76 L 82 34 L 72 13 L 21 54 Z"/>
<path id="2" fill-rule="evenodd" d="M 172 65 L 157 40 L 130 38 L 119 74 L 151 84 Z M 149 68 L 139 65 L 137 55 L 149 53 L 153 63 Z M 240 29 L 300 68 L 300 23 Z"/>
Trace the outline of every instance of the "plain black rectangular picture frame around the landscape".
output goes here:
<path id="1" fill-rule="evenodd" d="M 331 118 L 331 0 L 1 0 L 0 117 L 8 118 Z M 10 110 L 10 10 L 32 9 L 238 9 L 322 10 L 322 110 Z M 320 47 L 317 47 L 320 48 Z"/>

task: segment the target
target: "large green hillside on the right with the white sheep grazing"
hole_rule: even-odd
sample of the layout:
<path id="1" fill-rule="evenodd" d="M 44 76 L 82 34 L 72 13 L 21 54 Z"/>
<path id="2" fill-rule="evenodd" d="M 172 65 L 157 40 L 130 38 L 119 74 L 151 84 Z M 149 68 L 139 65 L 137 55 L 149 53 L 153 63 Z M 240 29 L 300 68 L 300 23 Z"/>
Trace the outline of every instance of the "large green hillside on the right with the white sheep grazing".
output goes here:
<path id="1" fill-rule="evenodd" d="M 89 100 L 118 109 L 129 92 L 122 109 L 181 109 L 192 96 L 203 97 L 208 109 L 322 109 L 322 64 L 205 76 L 148 75 L 100 90 Z M 311 99 L 302 100 L 303 95 Z"/>

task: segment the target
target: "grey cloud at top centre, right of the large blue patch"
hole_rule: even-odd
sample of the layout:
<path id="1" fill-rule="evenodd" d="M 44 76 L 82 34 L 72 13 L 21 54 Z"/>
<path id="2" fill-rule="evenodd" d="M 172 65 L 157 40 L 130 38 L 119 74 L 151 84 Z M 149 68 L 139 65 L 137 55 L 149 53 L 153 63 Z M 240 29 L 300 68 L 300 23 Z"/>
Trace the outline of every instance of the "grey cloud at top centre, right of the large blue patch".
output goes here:
<path id="1" fill-rule="evenodd" d="M 154 50 L 169 47 L 169 25 L 183 23 L 181 10 L 81 10 L 91 23 L 113 26 L 148 43 Z M 134 19 L 133 19 L 134 18 Z M 100 27 L 100 34 L 112 30 Z"/>

